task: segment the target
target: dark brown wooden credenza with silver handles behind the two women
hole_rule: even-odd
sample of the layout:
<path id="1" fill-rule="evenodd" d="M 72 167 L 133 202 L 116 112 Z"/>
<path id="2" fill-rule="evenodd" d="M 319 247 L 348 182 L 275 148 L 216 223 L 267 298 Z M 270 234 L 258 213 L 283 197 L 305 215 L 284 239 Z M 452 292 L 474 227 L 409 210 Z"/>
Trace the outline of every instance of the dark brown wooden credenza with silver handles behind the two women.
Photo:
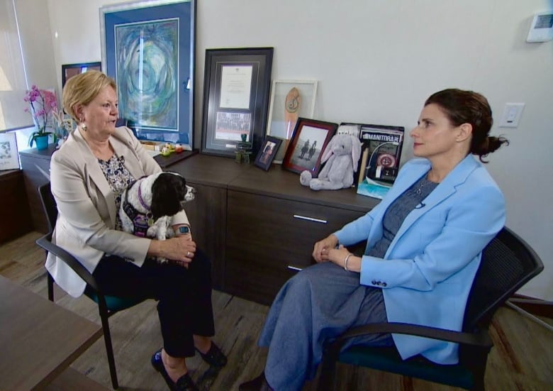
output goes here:
<path id="1" fill-rule="evenodd" d="M 33 224 L 47 230 L 37 188 L 52 151 L 21 152 Z M 185 204 L 194 241 L 212 262 L 213 287 L 270 304 L 280 287 L 311 265 L 313 244 L 372 209 L 379 200 L 354 189 L 315 192 L 299 175 L 264 171 L 231 158 L 194 155 L 167 167 L 196 187 Z"/>

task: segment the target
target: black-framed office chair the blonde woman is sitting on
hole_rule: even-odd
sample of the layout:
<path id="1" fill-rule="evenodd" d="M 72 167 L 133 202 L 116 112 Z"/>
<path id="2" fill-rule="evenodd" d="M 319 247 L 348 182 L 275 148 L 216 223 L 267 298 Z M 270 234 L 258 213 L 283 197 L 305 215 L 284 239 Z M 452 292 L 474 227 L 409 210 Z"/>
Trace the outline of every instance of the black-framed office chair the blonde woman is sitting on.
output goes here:
<path id="1" fill-rule="evenodd" d="M 136 304 L 143 302 L 145 299 L 128 299 L 123 297 L 108 296 L 101 292 L 101 289 L 96 283 L 96 279 L 91 272 L 86 270 L 82 263 L 74 258 L 73 255 L 67 253 L 67 251 L 52 243 L 52 232 L 57 219 L 57 205 L 54 197 L 52 196 L 52 192 L 50 192 L 50 182 L 40 186 L 38 188 L 38 192 L 40 194 L 40 201 L 43 204 L 43 210 L 46 215 L 46 220 L 48 221 L 48 229 L 50 232 L 42 238 L 38 238 L 36 243 L 46 251 L 47 255 L 48 253 L 55 254 L 58 259 L 67 263 L 67 265 L 69 265 L 69 267 L 72 268 L 74 272 L 76 272 L 77 275 L 79 275 L 79 277 L 86 282 L 86 290 L 84 291 L 84 294 L 98 304 L 102 329 L 104 331 L 104 341 L 106 343 L 106 353 L 108 355 L 111 384 L 113 385 L 113 389 L 117 389 L 119 385 L 115 360 L 113 358 L 113 347 L 111 346 L 111 333 L 109 331 L 108 318 L 123 309 L 133 307 Z M 54 302 L 54 279 L 48 271 L 46 274 L 48 278 L 48 299 Z"/>

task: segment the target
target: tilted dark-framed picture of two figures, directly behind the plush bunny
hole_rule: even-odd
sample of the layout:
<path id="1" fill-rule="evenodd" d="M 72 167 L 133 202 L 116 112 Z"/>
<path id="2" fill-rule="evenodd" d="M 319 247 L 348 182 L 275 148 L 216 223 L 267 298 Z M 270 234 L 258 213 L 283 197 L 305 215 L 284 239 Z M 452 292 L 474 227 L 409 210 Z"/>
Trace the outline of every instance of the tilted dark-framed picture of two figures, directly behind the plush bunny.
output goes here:
<path id="1" fill-rule="evenodd" d="M 317 177 L 321 152 L 337 128 L 337 123 L 298 118 L 290 145 L 282 160 L 282 167 L 298 174 L 308 170 L 313 177 Z"/>

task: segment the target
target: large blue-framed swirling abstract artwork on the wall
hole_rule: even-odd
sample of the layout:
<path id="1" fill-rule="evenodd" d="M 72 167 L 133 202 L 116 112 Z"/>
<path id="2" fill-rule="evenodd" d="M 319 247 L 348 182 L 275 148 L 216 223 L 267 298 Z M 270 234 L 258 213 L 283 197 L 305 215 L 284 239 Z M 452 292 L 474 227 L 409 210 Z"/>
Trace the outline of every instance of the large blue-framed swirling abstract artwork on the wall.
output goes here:
<path id="1" fill-rule="evenodd" d="M 100 9 L 102 69 L 140 139 L 194 145 L 194 0 Z"/>

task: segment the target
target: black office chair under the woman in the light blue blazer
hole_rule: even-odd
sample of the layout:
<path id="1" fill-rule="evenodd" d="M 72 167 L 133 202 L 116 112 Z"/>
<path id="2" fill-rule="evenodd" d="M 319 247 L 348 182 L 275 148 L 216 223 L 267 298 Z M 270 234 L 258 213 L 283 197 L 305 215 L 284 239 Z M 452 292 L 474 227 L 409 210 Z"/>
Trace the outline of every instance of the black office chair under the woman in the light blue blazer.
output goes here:
<path id="1" fill-rule="evenodd" d="M 518 235 L 503 228 L 484 248 L 476 272 L 461 332 L 414 324 L 381 323 L 355 327 L 328 343 L 318 390 L 334 390 L 337 362 L 420 378 L 466 390 L 484 390 L 486 360 L 493 346 L 488 328 L 496 312 L 514 292 L 543 270 L 540 257 Z M 352 337 L 374 333 L 396 333 L 435 338 L 459 343 L 459 363 L 440 365 L 423 356 L 402 360 L 396 348 L 351 346 L 342 351 Z"/>

